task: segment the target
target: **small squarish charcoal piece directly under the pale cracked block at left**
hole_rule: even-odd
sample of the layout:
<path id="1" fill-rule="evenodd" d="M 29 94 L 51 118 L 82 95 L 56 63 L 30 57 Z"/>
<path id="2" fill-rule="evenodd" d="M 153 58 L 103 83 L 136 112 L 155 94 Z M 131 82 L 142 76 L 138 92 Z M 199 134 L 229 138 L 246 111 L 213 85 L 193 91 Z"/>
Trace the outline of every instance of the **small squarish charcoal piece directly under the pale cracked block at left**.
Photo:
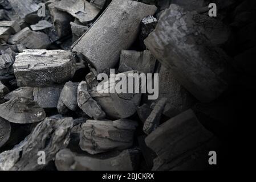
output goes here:
<path id="1" fill-rule="evenodd" d="M 42 108 L 55 108 L 58 105 L 63 85 L 34 88 L 34 101 Z"/>

